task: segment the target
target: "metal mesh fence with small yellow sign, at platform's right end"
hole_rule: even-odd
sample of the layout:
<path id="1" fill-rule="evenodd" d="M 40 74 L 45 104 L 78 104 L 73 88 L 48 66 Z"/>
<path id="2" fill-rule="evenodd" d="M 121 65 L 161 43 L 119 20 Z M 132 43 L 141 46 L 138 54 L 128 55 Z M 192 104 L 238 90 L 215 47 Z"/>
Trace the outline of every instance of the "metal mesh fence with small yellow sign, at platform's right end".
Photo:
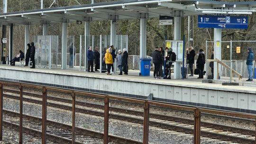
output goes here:
<path id="1" fill-rule="evenodd" d="M 224 41 L 224 42 L 206 42 L 206 59 L 210 59 L 211 51 L 214 49 L 214 45 L 219 45 L 221 48 L 221 62 L 227 64 L 231 69 L 240 73 L 243 78 L 248 77 L 247 73 L 247 49 L 251 48 L 253 52 L 256 52 L 256 41 Z M 254 55 L 256 59 L 256 54 Z M 209 67 L 210 62 L 206 62 L 205 70 L 206 75 L 211 75 Z M 214 63 L 216 64 L 216 63 Z M 231 69 L 227 69 L 222 65 L 219 65 L 219 79 L 238 78 Z M 255 61 L 253 61 L 253 70 L 255 69 Z M 231 76 L 232 72 L 232 76 Z M 254 72 L 253 72 L 254 73 Z"/>

